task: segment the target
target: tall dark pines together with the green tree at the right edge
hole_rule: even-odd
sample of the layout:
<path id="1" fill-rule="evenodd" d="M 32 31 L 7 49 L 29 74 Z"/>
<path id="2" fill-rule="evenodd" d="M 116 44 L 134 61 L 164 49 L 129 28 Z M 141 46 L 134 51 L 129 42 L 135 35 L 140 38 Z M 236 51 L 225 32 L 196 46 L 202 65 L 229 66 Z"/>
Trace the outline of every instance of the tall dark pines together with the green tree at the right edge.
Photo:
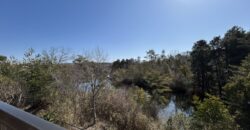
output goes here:
<path id="1" fill-rule="evenodd" d="M 250 32 L 240 27 L 209 43 L 197 41 L 191 52 L 194 85 L 201 99 L 205 93 L 219 96 L 244 129 L 250 129 L 249 53 Z"/>

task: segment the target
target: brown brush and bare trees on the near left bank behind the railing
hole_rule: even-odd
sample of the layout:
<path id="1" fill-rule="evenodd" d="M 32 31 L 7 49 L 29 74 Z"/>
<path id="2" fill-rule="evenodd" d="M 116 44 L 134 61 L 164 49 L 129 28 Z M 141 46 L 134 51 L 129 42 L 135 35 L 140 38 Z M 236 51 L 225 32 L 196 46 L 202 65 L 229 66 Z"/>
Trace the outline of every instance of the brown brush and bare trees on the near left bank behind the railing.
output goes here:
<path id="1" fill-rule="evenodd" d="M 100 49 L 1 56 L 0 100 L 67 129 L 160 129 L 151 96 L 139 88 L 115 89 L 110 71 Z"/>

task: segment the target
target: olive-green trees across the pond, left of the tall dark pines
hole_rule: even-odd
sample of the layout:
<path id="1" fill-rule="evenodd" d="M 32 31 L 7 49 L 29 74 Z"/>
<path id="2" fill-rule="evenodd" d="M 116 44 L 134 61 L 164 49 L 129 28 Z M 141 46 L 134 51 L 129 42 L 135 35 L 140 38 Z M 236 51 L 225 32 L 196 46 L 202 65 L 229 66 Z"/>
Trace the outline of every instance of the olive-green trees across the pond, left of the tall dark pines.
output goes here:
<path id="1" fill-rule="evenodd" d="M 148 61 L 117 60 L 112 66 L 115 86 L 138 86 L 152 95 L 159 104 L 168 102 L 168 93 L 192 90 L 192 72 L 188 54 L 167 57 L 154 50 L 147 52 Z"/>

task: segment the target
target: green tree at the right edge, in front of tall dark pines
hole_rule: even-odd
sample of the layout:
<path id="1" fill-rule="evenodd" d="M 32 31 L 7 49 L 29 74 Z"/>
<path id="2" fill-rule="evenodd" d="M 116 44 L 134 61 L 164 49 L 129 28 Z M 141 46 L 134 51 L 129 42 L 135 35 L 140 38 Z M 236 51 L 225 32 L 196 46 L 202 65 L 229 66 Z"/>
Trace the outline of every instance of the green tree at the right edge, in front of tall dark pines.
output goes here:
<path id="1" fill-rule="evenodd" d="M 236 114 L 238 123 L 244 129 L 250 129 L 250 55 L 243 60 L 238 71 L 225 86 L 226 99 Z"/>

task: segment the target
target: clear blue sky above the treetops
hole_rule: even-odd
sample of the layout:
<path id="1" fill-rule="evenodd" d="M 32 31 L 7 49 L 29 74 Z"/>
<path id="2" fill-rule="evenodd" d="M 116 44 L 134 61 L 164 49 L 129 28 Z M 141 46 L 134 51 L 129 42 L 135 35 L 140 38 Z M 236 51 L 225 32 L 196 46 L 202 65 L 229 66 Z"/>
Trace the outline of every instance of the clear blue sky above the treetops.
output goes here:
<path id="1" fill-rule="evenodd" d="M 249 31 L 249 12 L 249 0 L 0 0 L 0 54 L 99 47 L 112 61 L 183 52 L 234 25 Z"/>

